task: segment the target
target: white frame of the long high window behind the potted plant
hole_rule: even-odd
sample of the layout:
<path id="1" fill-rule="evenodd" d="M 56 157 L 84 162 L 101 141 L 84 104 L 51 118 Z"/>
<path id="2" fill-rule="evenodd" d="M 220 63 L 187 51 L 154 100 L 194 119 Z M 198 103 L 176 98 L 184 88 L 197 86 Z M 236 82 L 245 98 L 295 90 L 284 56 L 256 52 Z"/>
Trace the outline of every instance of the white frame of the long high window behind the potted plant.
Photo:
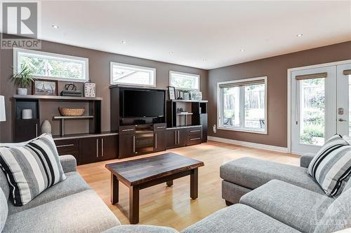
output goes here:
<path id="1" fill-rule="evenodd" d="M 58 60 L 58 61 L 73 61 L 73 62 L 78 62 L 81 63 L 83 66 L 82 70 L 82 75 L 83 78 L 60 78 L 60 77 L 53 77 L 53 76 L 40 76 L 40 75 L 35 75 L 36 78 L 41 78 L 41 79 L 48 79 L 48 80 L 59 80 L 59 81 L 65 81 L 65 82 L 77 82 L 77 83 L 85 83 L 89 80 L 89 59 L 86 57 L 75 57 L 75 56 L 69 56 L 69 55 L 62 55 L 58 53 L 53 53 L 53 52 L 42 52 L 38 50 L 27 50 L 24 48 L 13 48 L 13 73 L 19 72 L 20 71 L 20 53 L 25 53 L 26 55 L 33 55 L 35 57 L 51 57 L 52 59 Z"/>

